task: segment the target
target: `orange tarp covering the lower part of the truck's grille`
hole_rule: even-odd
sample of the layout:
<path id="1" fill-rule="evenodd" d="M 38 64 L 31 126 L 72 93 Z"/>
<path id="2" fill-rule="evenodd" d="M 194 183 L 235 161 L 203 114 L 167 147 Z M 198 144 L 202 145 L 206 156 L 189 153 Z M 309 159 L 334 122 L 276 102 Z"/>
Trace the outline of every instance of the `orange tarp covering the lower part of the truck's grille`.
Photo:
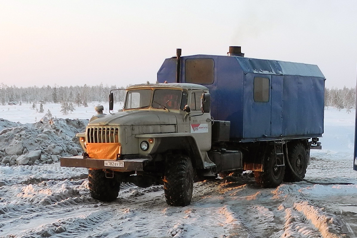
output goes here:
<path id="1" fill-rule="evenodd" d="M 87 153 L 93 159 L 116 159 L 121 153 L 120 143 L 87 143 Z"/>

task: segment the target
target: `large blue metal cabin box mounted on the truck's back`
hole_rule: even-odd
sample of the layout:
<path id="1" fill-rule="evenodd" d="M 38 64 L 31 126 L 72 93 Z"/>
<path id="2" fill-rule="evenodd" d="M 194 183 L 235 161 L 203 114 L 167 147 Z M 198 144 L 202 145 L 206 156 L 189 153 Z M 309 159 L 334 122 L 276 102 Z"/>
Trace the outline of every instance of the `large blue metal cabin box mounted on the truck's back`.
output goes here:
<path id="1" fill-rule="evenodd" d="M 166 59 L 159 82 L 176 82 L 177 59 Z M 211 115 L 230 121 L 232 141 L 321 137 L 325 77 L 317 65 L 239 56 L 181 57 L 180 82 L 209 88 Z"/>

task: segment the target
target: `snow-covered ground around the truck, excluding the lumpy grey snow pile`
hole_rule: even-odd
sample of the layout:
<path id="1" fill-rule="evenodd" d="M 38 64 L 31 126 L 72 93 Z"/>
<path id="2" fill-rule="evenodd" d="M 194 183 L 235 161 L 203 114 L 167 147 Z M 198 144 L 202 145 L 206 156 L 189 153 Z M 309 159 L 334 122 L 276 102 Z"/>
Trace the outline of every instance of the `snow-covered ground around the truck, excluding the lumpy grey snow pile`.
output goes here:
<path id="1" fill-rule="evenodd" d="M 59 105 L 44 105 L 44 110 L 57 118 L 89 119 L 96 105 L 76 108 L 67 116 L 61 115 Z M 0 117 L 34 123 L 43 115 L 31 108 L 0 106 Z M 352 169 L 354 126 L 355 111 L 325 110 L 323 150 L 311 151 L 306 179 L 357 183 Z M 86 174 L 86 169 L 62 168 L 59 163 L 0 167 L 0 237 L 357 236 L 355 184 L 298 182 L 263 189 L 246 173 L 195 183 L 189 206 L 169 207 L 162 186 L 124 183 L 116 201 L 98 202 L 90 197 Z"/>

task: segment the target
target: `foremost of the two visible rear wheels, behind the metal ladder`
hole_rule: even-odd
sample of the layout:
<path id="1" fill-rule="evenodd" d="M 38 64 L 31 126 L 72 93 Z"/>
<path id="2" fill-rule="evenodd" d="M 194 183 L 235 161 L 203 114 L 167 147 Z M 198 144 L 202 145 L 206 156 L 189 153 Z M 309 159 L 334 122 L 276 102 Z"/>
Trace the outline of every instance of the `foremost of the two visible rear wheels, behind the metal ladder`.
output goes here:
<path id="1" fill-rule="evenodd" d="M 264 172 L 254 171 L 255 181 L 264 188 L 275 188 L 283 181 L 285 166 L 281 156 L 275 156 L 274 147 L 265 155 Z"/>

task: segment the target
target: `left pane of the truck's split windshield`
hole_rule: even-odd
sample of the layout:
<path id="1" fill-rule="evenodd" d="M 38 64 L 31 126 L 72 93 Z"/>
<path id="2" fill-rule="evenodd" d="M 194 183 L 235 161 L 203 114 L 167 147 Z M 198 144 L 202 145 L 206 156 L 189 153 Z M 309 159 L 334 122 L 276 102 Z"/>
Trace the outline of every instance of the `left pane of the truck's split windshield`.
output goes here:
<path id="1" fill-rule="evenodd" d="M 126 94 L 125 109 L 145 108 L 150 106 L 152 90 L 130 90 Z"/>

